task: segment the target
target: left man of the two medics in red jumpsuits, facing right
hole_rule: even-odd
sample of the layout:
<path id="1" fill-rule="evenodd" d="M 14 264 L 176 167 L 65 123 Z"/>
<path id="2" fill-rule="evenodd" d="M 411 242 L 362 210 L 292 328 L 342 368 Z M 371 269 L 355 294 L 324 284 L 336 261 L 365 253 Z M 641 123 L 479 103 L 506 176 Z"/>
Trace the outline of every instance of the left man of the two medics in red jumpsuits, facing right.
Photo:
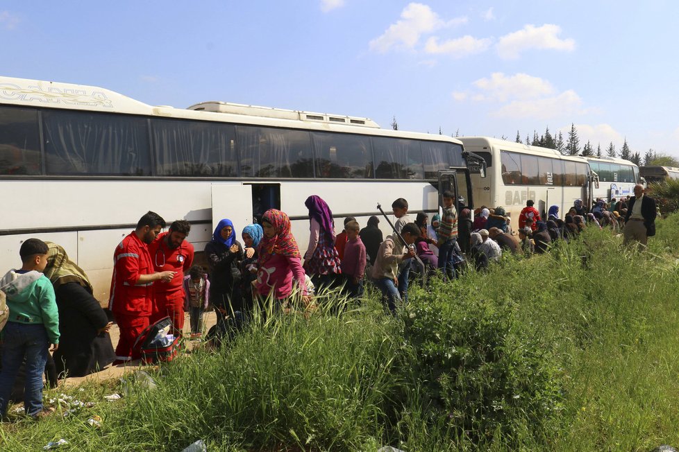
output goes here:
<path id="1" fill-rule="evenodd" d="M 165 227 L 165 220 L 155 212 L 147 212 L 113 253 L 108 308 L 120 330 L 114 364 L 140 358 L 139 350 L 133 351 L 133 346 L 140 333 L 149 326 L 153 281 L 167 283 L 174 277 L 174 272 L 153 272 L 148 245 L 156 239 L 161 227 Z"/>

